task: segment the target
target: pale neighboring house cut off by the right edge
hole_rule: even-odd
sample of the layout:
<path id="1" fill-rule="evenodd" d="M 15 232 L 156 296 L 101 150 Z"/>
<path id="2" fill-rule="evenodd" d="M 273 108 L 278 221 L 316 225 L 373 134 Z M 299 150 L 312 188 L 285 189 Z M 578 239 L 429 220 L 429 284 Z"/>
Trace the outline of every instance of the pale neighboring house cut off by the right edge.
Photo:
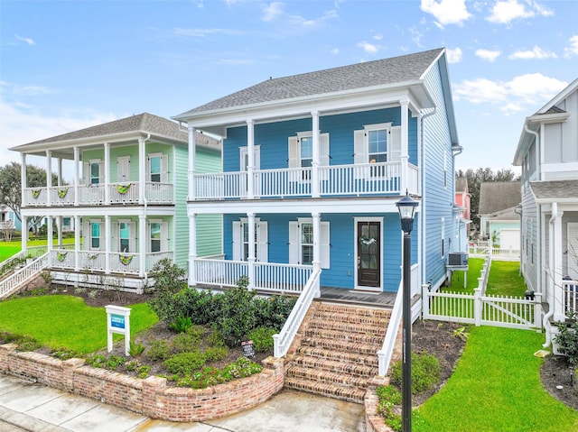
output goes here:
<path id="1" fill-rule="evenodd" d="M 521 271 L 548 305 L 549 342 L 549 323 L 576 310 L 578 79 L 526 118 L 514 165 L 522 167 Z"/>

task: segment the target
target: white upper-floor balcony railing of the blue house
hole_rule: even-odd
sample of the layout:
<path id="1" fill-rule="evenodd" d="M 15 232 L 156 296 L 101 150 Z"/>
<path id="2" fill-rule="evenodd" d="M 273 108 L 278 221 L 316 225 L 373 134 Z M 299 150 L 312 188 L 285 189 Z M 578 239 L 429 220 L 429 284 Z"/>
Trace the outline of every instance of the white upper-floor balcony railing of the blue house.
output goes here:
<path id="1" fill-rule="evenodd" d="M 408 164 L 404 174 L 401 162 L 324 166 L 318 168 L 318 174 L 316 190 L 321 197 L 399 195 L 405 188 L 410 193 L 418 193 L 417 167 Z M 195 174 L 195 198 L 247 198 L 250 195 L 247 176 L 246 171 Z M 311 167 L 256 170 L 252 195 L 255 198 L 311 197 L 315 190 L 312 179 Z"/>

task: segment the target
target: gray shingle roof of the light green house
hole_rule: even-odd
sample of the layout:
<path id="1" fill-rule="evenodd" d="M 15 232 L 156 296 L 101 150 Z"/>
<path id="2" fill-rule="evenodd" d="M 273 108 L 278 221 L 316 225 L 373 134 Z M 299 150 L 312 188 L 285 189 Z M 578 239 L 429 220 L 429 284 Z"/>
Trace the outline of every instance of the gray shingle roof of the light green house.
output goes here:
<path id="1" fill-rule="evenodd" d="M 80 129 L 79 131 L 63 133 L 61 135 L 52 136 L 51 138 L 46 138 L 40 141 L 29 142 L 28 144 L 14 147 L 11 150 L 18 151 L 23 146 L 31 144 L 70 142 L 74 140 L 106 137 L 110 135 L 131 132 L 151 133 L 154 135 L 172 138 L 177 141 L 188 141 L 188 133 L 182 132 L 182 130 L 179 128 L 179 124 L 176 124 L 172 122 L 172 120 L 168 120 L 157 115 L 143 113 L 121 118 L 120 120 L 115 120 L 113 122 L 87 127 L 86 129 Z"/>

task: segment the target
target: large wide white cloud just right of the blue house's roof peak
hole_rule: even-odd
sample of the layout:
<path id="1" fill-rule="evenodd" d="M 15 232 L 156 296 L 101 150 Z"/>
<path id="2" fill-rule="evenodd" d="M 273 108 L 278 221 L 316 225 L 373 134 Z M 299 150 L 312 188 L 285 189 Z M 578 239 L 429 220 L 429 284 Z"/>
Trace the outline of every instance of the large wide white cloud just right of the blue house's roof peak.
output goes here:
<path id="1" fill-rule="evenodd" d="M 547 102 L 567 85 L 564 81 L 535 73 L 520 75 L 510 81 L 465 79 L 453 86 L 453 94 L 456 100 L 496 106 L 508 115 Z"/>

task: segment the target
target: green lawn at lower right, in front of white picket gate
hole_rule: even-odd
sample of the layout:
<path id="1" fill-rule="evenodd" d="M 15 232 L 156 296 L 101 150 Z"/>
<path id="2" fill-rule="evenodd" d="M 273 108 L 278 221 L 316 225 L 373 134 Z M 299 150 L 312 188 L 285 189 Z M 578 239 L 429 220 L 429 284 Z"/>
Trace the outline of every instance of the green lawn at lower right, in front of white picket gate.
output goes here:
<path id="1" fill-rule="evenodd" d="M 418 410 L 415 432 L 576 432 L 578 412 L 542 387 L 544 335 L 470 327 L 468 342 L 443 389 Z"/>

